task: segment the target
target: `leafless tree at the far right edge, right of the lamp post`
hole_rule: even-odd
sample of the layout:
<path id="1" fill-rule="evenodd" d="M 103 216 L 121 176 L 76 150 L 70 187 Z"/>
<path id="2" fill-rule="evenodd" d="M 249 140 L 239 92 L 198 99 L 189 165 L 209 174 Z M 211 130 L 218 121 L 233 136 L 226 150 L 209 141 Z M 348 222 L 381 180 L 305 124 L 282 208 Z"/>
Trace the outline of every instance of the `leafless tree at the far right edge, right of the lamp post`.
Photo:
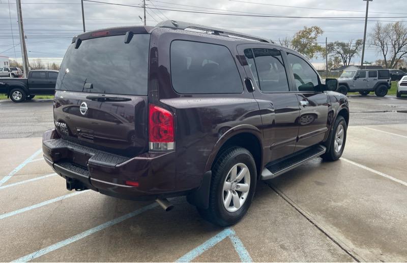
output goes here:
<path id="1" fill-rule="evenodd" d="M 380 48 L 386 68 L 396 68 L 400 60 L 407 57 L 407 26 L 402 22 L 385 25 L 377 22 L 370 38 L 372 45 Z"/>

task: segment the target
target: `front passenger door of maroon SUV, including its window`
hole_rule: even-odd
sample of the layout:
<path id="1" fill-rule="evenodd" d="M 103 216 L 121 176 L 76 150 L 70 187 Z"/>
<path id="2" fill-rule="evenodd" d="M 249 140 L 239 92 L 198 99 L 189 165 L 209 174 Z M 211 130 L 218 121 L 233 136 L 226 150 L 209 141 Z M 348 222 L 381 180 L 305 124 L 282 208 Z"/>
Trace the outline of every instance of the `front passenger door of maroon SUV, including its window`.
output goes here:
<path id="1" fill-rule="evenodd" d="M 300 105 L 297 152 L 324 140 L 328 131 L 329 98 L 322 91 L 321 80 L 309 62 L 289 52 L 287 60 Z"/>

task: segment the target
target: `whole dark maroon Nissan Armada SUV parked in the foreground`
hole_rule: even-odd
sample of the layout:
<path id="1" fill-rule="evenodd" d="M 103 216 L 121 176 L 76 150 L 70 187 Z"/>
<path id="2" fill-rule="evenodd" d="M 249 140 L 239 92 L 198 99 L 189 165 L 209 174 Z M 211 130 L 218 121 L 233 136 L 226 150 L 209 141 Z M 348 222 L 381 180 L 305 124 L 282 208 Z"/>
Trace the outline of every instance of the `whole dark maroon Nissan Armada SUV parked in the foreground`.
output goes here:
<path id="1" fill-rule="evenodd" d="M 74 37 L 56 81 L 44 157 L 72 190 L 131 200 L 186 195 L 219 225 L 256 182 L 338 159 L 349 119 L 336 79 L 271 41 L 165 21 Z"/>

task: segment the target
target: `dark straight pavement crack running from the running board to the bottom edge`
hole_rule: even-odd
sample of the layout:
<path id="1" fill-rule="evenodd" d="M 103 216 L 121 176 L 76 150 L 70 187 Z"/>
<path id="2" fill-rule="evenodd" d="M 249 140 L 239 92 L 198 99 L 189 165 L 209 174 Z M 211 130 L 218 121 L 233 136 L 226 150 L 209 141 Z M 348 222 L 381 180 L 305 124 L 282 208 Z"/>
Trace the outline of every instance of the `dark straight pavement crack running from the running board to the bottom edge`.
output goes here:
<path id="1" fill-rule="evenodd" d="M 336 240 L 333 235 L 328 233 L 326 229 L 323 229 L 322 226 L 318 225 L 316 220 L 314 220 L 310 215 L 308 215 L 303 209 L 301 209 L 293 200 L 289 199 L 283 192 L 281 192 L 276 186 L 270 182 L 264 182 L 269 186 L 273 191 L 275 191 L 278 196 L 280 196 L 285 202 L 292 206 L 300 215 L 307 219 L 313 226 L 315 226 L 321 233 L 323 233 L 327 238 L 334 242 L 340 249 L 342 249 L 346 254 L 352 257 L 356 262 L 366 262 L 360 255 L 358 255 L 353 249 L 349 248 L 342 241 Z"/>

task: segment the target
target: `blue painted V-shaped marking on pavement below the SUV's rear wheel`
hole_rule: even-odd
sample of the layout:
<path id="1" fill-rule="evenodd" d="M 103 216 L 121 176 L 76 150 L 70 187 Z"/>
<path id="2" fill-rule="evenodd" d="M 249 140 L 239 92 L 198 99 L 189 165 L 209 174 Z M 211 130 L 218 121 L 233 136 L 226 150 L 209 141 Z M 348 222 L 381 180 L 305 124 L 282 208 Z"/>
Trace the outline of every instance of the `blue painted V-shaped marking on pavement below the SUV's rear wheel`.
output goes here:
<path id="1" fill-rule="evenodd" d="M 238 253 L 242 262 L 253 262 L 250 257 L 249 252 L 247 252 L 246 248 L 244 247 L 242 241 L 236 235 L 236 232 L 232 228 L 225 228 L 221 232 L 219 232 L 216 236 L 208 239 L 207 241 L 203 242 L 201 245 L 197 246 L 196 248 L 192 249 L 182 257 L 180 257 L 177 262 L 190 262 L 197 256 L 201 255 L 203 252 L 207 251 L 211 247 L 215 246 L 225 238 L 229 237 L 230 241 L 232 242 L 233 246 L 235 247 L 236 252 Z"/>

